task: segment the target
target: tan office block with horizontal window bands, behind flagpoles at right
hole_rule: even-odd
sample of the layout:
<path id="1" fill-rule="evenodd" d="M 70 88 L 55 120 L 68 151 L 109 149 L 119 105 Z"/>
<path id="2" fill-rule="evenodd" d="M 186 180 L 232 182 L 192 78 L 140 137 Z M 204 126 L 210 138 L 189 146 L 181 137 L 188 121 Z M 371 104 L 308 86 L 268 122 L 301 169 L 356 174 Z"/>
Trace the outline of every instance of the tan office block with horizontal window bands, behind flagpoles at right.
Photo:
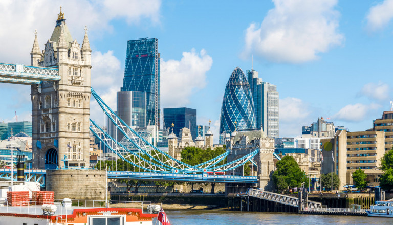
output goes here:
<path id="1" fill-rule="evenodd" d="M 322 173 L 330 173 L 333 170 L 340 178 L 339 190 L 344 190 L 344 185 L 353 184 L 352 173 L 357 169 L 368 173 L 367 179 L 372 182 L 376 182 L 376 176 L 382 174 L 379 167 L 381 157 L 385 153 L 383 131 L 337 130 L 334 138 L 321 139 L 321 147 L 324 159 Z"/>

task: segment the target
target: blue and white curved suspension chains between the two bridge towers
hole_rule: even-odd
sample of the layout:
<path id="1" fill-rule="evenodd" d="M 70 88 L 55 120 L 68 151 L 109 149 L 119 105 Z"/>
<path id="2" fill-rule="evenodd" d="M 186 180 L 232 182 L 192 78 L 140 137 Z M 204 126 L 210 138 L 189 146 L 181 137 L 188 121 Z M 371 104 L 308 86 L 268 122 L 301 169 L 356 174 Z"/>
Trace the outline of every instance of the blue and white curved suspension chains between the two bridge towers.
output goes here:
<path id="1" fill-rule="evenodd" d="M 114 111 L 108 107 L 105 102 L 98 96 L 98 94 L 91 88 L 92 96 L 97 100 L 98 104 L 106 114 L 108 120 L 110 120 L 115 128 L 120 131 L 126 139 L 133 144 L 139 151 L 135 153 L 130 151 L 125 146 L 121 145 L 117 140 L 110 137 L 104 132 L 94 121 L 90 120 L 90 130 L 93 134 L 102 141 L 106 147 L 111 149 L 112 152 L 116 153 L 121 159 L 129 162 L 130 164 L 139 167 L 142 170 L 161 172 L 161 173 L 206 173 L 206 172 L 226 172 L 233 170 L 239 166 L 243 166 L 246 162 L 250 161 L 257 153 L 258 149 L 251 152 L 248 155 L 243 156 L 233 162 L 226 163 L 224 165 L 217 165 L 223 161 L 228 155 L 228 152 L 220 155 L 212 160 L 205 163 L 190 166 L 179 160 L 174 159 L 172 156 L 166 154 L 154 145 L 144 140 L 136 131 L 131 129 L 127 124 L 124 123 Z M 142 157 L 144 156 L 144 157 Z M 144 159 L 144 158 L 147 158 Z M 139 159 L 140 161 L 136 161 Z"/>

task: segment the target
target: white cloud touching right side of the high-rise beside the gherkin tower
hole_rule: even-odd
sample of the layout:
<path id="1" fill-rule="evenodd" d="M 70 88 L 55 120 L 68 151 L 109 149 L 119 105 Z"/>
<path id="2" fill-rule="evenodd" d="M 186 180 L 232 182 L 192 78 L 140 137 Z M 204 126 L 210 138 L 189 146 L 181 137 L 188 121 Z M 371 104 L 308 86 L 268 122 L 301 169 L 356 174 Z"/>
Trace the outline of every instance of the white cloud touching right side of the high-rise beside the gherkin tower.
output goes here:
<path id="1" fill-rule="evenodd" d="M 301 99 L 287 97 L 279 100 L 280 137 L 298 137 L 305 120 L 310 117 L 307 103 Z"/>

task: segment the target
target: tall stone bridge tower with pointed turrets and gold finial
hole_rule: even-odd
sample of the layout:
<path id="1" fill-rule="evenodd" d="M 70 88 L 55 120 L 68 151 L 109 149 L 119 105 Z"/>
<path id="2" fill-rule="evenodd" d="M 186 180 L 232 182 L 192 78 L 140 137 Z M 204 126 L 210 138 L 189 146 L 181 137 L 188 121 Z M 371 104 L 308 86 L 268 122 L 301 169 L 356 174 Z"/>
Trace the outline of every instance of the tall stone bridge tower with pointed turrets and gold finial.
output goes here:
<path id="1" fill-rule="evenodd" d="M 72 39 L 64 13 L 41 52 L 37 33 L 31 65 L 58 66 L 60 81 L 31 86 L 33 168 L 89 166 L 91 49 L 85 28 L 82 47 Z M 63 160 L 65 157 L 65 160 Z"/>

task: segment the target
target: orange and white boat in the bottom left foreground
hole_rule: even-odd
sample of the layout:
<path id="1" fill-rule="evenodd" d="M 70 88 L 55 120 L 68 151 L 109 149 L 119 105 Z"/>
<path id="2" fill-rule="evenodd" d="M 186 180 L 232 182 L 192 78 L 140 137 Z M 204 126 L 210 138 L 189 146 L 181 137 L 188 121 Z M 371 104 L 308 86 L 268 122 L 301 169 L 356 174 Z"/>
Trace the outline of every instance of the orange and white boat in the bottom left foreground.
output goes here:
<path id="1" fill-rule="evenodd" d="M 10 194 L 11 195 L 11 194 Z M 22 196 L 19 193 L 12 193 Z M 28 198 L 27 198 L 28 199 Z M 0 202 L 0 225 L 152 225 L 158 217 L 160 205 L 151 202 L 117 201 L 106 204 L 100 200 L 53 199 L 50 204 L 31 200 Z M 44 198 L 45 201 L 45 198 Z M 146 207 L 147 206 L 147 207 Z"/>

